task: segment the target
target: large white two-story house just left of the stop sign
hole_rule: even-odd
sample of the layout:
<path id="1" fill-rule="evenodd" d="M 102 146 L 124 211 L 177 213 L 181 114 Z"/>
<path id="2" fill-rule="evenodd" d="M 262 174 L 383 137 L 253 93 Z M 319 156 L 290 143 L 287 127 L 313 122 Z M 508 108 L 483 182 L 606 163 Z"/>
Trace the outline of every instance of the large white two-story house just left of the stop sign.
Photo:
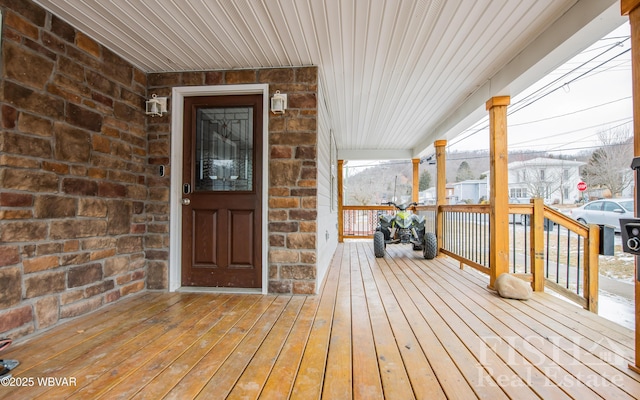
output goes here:
<path id="1" fill-rule="evenodd" d="M 580 161 L 534 158 L 509 163 L 509 197 L 540 197 L 545 203 L 571 204 L 581 198 L 578 190 Z"/>

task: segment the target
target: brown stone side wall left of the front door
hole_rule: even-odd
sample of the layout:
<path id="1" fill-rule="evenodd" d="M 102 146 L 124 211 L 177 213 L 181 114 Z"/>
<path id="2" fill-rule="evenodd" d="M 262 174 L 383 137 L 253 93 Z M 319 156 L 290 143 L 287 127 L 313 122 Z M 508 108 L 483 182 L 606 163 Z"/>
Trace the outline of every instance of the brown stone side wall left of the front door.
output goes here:
<path id="1" fill-rule="evenodd" d="M 31 1 L 0 7 L 0 336 L 15 338 L 144 290 L 147 260 L 166 264 L 168 190 L 146 75 Z"/>

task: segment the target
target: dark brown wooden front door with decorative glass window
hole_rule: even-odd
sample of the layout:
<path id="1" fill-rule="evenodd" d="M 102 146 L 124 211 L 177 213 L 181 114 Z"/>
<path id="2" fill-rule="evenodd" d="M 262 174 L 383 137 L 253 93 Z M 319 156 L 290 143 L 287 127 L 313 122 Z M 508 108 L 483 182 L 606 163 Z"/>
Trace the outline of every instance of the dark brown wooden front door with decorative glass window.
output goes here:
<path id="1" fill-rule="evenodd" d="M 262 95 L 184 100 L 183 286 L 262 286 L 262 112 Z"/>

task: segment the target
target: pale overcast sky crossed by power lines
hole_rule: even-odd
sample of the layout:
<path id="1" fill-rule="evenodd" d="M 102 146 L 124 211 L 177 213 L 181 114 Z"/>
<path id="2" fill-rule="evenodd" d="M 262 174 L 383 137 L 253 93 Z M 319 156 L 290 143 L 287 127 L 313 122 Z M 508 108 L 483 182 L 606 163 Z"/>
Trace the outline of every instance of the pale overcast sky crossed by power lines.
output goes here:
<path id="1" fill-rule="evenodd" d="M 624 24 L 514 96 L 507 110 L 509 150 L 576 153 L 598 146 L 601 130 L 621 127 L 631 135 L 629 34 L 629 24 Z M 528 97 L 532 93 L 535 97 Z M 486 119 L 450 140 L 448 146 L 449 151 L 488 148 Z"/>

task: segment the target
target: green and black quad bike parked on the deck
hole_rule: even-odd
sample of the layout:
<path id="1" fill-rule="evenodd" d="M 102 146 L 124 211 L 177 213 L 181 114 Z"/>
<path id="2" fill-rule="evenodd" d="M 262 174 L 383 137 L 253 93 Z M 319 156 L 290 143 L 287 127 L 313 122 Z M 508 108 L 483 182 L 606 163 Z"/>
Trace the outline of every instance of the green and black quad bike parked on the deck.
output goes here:
<path id="1" fill-rule="evenodd" d="M 413 250 L 422 250 L 422 256 L 431 260 L 436 256 L 436 235 L 425 232 L 424 217 L 416 215 L 408 210 L 418 203 L 397 205 L 390 201 L 382 203 L 394 206 L 398 211 L 396 215 L 380 214 L 378 226 L 373 234 L 373 253 L 376 257 L 384 257 L 384 251 L 388 244 L 411 244 Z"/>

